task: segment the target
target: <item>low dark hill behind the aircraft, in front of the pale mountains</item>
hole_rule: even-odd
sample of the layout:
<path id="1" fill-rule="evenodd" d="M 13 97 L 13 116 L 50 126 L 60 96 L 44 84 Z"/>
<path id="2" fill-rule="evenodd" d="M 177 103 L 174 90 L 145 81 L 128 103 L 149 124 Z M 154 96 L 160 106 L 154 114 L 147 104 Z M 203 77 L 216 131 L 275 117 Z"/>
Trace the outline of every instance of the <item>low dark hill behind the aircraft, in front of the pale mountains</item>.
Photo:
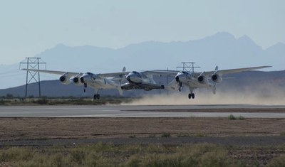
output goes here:
<path id="1" fill-rule="evenodd" d="M 169 78 L 169 81 L 173 78 Z M 156 82 L 166 84 L 166 77 L 155 77 Z M 41 82 L 41 94 L 47 97 L 93 97 L 94 91 L 90 88 L 83 93 L 83 87 L 73 85 L 62 85 L 58 80 L 48 80 Z M 184 89 L 188 93 L 187 87 Z M 197 97 L 199 93 L 212 94 L 211 90 L 201 89 L 197 90 Z M 274 72 L 260 72 L 249 71 L 241 72 L 233 75 L 224 75 L 224 80 L 221 84 L 217 85 L 217 93 L 231 92 L 231 93 L 252 93 L 262 96 L 282 96 L 285 95 L 285 70 Z M 142 95 L 166 94 L 165 90 L 132 90 L 124 91 L 124 97 L 135 97 Z M 174 92 L 171 92 L 174 93 Z M 178 93 L 178 92 L 176 92 Z M 0 90 L 0 96 L 7 94 L 14 95 L 14 97 L 24 97 L 25 85 L 13 87 L 9 89 Z M 119 96 L 117 90 L 102 90 L 100 91 L 102 97 L 104 96 Z M 38 96 L 38 85 L 28 85 L 28 95 Z"/>

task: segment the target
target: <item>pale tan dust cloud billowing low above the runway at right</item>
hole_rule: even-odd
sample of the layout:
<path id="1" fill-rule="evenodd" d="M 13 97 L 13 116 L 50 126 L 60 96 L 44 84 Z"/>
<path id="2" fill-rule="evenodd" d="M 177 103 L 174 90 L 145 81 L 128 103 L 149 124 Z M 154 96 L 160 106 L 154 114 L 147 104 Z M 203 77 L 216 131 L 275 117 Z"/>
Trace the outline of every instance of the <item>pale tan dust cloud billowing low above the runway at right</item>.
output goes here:
<path id="1" fill-rule="evenodd" d="M 125 105 L 189 105 L 189 104 L 255 104 L 255 105 L 284 105 L 285 95 L 278 92 L 211 92 L 195 93 L 195 99 L 188 99 L 186 93 L 172 95 L 151 95 L 134 99 Z"/>

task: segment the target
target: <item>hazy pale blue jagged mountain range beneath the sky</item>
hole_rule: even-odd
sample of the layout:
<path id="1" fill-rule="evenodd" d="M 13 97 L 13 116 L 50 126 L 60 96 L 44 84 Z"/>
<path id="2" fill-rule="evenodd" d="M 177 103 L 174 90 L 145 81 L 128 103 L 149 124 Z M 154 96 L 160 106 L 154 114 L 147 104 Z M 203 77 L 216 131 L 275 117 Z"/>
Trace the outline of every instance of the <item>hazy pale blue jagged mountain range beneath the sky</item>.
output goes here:
<path id="1" fill-rule="evenodd" d="M 216 65 L 219 65 L 221 70 L 259 65 L 273 66 L 265 70 L 285 69 L 284 43 L 263 49 L 248 36 L 234 38 L 226 32 L 194 41 L 150 41 L 118 49 L 91 45 L 69 47 L 59 44 L 35 56 L 48 63 L 48 70 L 93 73 L 117 72 L 123 66 L 127 70 L 176 70 L 176 67 L 185 61 L 196 62 L 202 67 L 201 70 L 213 70 Z M 5 80 L 1 82 L 0 88 L 14 87 L 25 82 L 25 72 L 19 72 L 17 69 L 19 64 L 0 65 L 0 77 Z M 43 75 L 43 80 L 50 80 L 50 77 Z"/>

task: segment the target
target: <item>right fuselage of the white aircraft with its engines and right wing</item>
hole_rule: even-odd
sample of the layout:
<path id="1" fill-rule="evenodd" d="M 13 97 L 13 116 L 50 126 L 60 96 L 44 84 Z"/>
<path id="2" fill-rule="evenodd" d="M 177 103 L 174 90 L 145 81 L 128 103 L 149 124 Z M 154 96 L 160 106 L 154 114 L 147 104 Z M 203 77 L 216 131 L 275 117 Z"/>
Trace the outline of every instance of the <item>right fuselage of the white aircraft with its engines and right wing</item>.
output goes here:
<path id="1" fill-rule="evenodd" d="M 175 80 L 177 82 L 178 90 L 182 90 L 182 86 L 189 87 L 190 94 L 188 95 L 189 99 L 194 99 L 195 94 L 193 91 L 197 88 L 211 88 L 213 93 L 216 93 L 216 85 L 217 83 L 222 82 L 222 75 L 232 74 L 237 72 L 244 72 L 249 70 L 257 70 L 261 68 L 271 68 L 271 66 L 259 66 L 252 68 L 237 68 L 237 69 L 229 69 L 229 70 L 218 70 L 218 67 L 214 71 L 208 72 L 178 72 L 177 71 L 164 71 L 169 74 L 176 74 Z M 162 72 L 162 71 L 157 71 Z"/>

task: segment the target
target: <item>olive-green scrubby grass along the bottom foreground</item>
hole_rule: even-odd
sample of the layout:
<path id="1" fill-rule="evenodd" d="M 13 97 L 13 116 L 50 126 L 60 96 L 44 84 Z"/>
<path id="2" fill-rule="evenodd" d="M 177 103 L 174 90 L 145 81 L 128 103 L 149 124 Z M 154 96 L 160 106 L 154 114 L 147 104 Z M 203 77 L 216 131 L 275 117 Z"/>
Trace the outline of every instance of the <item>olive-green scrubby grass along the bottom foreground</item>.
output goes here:
<path id="1" fill-rule="evenodd" d="M 6 146 L 0 150 L 0 166 L 284 166 L 284 155 L 285 146 Z"/>

